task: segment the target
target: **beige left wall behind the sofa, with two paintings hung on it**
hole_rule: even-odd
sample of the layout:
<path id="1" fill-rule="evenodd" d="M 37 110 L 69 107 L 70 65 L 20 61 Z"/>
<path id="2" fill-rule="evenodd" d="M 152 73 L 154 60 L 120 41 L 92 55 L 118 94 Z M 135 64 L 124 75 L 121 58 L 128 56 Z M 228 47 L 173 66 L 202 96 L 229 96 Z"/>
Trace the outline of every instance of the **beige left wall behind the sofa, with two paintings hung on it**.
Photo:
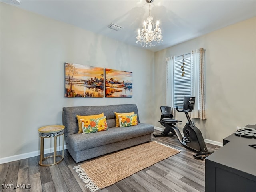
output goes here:
<path id="1" fill-rule="evenodd" d="M 64 98 L 64 62 L 133 72 L 133 97 Z M 152 124 L 153 64 L 151 51 L 1 3 L 0 157 L 39 150 L 38 128 L 62 124 L 66 106 L 137 104 Z"/>

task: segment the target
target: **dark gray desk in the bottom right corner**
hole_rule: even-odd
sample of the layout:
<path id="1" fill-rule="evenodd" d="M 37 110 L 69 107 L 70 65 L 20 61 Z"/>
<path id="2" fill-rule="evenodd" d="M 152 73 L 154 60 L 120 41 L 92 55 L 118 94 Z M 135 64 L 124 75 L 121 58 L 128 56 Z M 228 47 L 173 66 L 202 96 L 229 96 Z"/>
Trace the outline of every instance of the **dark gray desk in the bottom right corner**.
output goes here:
<path id="1" fill-rule="evenodd" d="M 256 139 L 234 133 L 223 139 L 223 147 L 205 159 L 205 192 L 256 192 L 256 148 L 250 144 Z"/>

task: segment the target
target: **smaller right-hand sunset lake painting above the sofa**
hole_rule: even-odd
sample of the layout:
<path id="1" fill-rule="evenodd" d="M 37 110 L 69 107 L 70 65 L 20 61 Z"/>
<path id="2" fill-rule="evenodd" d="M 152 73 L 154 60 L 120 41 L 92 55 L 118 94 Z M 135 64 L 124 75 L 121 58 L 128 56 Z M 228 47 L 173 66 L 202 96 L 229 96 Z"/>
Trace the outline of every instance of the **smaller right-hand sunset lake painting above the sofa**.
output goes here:
<path id="1" fill-rule="evenodd" d="M 132 97 L 132 72 L 105 69 L 105 96 Z"/>

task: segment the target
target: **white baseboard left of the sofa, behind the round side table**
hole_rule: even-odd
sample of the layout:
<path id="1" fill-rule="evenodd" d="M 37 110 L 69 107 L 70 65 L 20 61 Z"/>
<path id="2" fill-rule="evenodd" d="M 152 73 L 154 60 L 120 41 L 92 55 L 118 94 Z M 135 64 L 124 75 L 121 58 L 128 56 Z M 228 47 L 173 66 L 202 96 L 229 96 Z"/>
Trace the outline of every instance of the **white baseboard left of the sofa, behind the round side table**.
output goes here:
<path id="1" fill-rule="evenodd" d="M 64 150 L 65 149 L 67 149 L 67 145 L 64 145 Z M 62 151 L 62 146 L 58 146 L 57 151 Z M 44 154 L 53 153 L 53 152 L 54 152 L 54 147 L 44 149 Z M 35 157 L 35 156 L 38 156 L 38 155 L 40 155 L 40 150 L 29 152 L 29 153 L 23 153 L 23 154 L 19 154 L 19 155 L 13 155 L 13 156 L 10 156 L 10 157 L 4 157 L 4 158 L 0 158 L 0 164 L 8 163 L 8 162 L 11 162 L 11 161 L 17 161 L 17 160 L 21 160 L 21 159 L 26 159 L 26 158 L 30 158 L 30 157 Z"/>

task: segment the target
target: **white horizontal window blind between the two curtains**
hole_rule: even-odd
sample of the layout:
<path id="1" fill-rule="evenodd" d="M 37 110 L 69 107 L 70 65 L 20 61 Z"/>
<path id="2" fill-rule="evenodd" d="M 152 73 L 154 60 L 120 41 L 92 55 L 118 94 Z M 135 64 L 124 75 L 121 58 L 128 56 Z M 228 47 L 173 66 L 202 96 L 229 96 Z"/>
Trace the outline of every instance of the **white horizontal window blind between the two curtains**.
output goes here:
<path id="1" fill-rule="evenodd" d="M 184 76 L 182 76 L 183 56 L 174 58 L 174 106 L 183 106 L 184 96 L 191 96 L 192 93 L 192 62 L 191 54 L 184 55 Z"/>

